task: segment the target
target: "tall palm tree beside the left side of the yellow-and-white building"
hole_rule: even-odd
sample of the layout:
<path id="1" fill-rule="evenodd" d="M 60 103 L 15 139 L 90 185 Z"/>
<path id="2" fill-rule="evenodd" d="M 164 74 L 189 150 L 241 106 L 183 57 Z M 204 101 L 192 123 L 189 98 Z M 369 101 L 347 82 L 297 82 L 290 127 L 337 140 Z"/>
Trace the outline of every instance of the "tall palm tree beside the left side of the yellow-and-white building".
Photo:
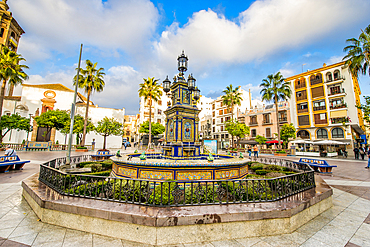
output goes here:
<path id="1" fill-rule="evenodd" d="M 278 147 L 280 149 L 280 123 L 278 103 L 280 100 L 287 100 L 290 98 L 292 92 L 290 90 L 289 82 L 285 81 L 283 75 L 278 72 L 275 75 L 268 75 L 266 79 L 263 79 L 260 87 L 262 87 L 262 100 L 273 101 L 275 104 Z"/>

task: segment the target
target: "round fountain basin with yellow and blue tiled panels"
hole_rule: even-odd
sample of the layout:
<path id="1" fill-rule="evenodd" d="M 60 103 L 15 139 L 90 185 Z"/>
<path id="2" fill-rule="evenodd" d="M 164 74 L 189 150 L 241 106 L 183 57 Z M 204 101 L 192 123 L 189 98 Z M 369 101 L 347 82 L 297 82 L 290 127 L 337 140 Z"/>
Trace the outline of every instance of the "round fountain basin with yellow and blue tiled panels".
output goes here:
<path id="1" fill-rule="evenodd" d="M 250 160 L 231 155 L 215 155 L 208 162 L 208 154 L 201 154 L 196 160 L 189 157 L 165 159 L 160 153 L 147 154 L 147 159 L 139 159 L 140 154 L 112 157 L 112 172 L 116 177 L 150 180 L 216 180 L 240 179 L 248 174 Z M 131 160 L 127 160 L 129 158 Z"/>

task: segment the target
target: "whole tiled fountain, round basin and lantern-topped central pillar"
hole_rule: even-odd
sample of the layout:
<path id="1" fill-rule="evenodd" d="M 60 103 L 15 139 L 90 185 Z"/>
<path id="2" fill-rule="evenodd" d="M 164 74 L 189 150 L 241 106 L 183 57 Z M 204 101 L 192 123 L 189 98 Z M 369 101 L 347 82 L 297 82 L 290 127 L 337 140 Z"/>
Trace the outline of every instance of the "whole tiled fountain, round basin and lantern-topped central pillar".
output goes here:
<path id="1" fill-rule="evenodd" d="M 151 180 L 239 179 L 248 174 L 248 160 L 222 154 L 201 153 L 199 141 L 200 90 L 190 74 L 185 78 L 188 57 L 177 58 L 179 73 L 173 82 L 163 81 L 163 91 L 171 96 L 166 114 L 165 142 L 161 152 L 113 157 L 116 177 Z"/>

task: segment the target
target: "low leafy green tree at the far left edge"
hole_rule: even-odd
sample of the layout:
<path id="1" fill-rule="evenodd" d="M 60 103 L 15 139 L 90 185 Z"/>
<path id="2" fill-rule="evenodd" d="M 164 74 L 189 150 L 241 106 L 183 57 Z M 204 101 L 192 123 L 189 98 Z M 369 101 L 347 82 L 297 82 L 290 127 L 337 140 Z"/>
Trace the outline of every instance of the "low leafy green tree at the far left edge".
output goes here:
<path id="1" fill-rule="evenodd" d="M 4 115 L 0 119 L 1 139 L 3 139 L 10 130 L 30 131 L 30 127 L 29 118 L 21 117 L 19 114 L 12 114 L 10 116 Z M 5 133 L 3 131 L 5 131 Z"/>

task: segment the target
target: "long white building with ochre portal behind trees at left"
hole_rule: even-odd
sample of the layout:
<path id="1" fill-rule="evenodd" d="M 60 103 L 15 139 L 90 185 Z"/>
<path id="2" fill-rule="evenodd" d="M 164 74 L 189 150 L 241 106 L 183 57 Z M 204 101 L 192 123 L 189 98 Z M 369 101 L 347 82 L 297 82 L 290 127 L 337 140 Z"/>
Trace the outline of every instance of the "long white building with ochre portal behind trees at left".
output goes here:
<path id="1" fill-rule="evenodd" d="M 21 96 L 6 96 L 3 106 L 3 114 L 19 113 L 23 117 L 34 117 L 37 112 L 41 114 L 44 111 L 50 109 L 59 110 L 71 110 L 72 102 L 74 97 L 74 90 L 67 88 L 62 84 L 40 84 L 30 85 L 23 84 Z M 78 93 L 76 113 L 81 116 L 85 116 L 86 111 L 86 98 Z M 125 109 L 112 109 L 103 108 L 94 105 L 90 101 L 89 106 L 89 118 L 94 125 L 102 120 L 104 117 L 114 117 L 119 122 L 124 122 Z M 34 121 L 31 121 L 31 125 Z M 37 128 L 34 128 L 32 133 L 29 133 L 29 141 L 41 141 L 40 133 L 37 133 Z M 103 137 L 90 132 L 86 135 L 86 144 L 91 144 L 92 140 L 95 139 L 96 147 L 103 147 Z M 23 140 L 27 140 L 27 132 L 25 131 L 12 131 L 8 133 L 3 141 L 9 143 L 21 143 Z M 52 131 L 50 140 L 53 142 L 58 141 L 60 144 L 64 144 L 66 141 L 65 135 L 59 131 Z M 75 143 L 76 138 L 73 138 Z M 107 138 L 107 148 L 121 148 L 122 137 L 121 136 L 110 136 Z"/>

